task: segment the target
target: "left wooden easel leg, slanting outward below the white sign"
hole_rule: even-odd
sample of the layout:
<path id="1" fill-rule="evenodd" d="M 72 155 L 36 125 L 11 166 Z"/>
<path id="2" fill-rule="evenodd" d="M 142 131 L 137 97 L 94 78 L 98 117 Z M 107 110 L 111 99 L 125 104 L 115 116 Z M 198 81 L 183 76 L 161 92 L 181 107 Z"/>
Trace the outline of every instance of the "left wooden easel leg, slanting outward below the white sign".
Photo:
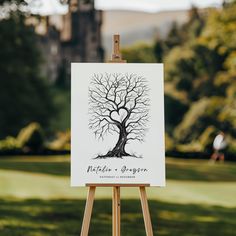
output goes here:
<path id="1" fill-rule="evenodd" d="M 89 231 L 89 225 L 90 225 L 90 219 L 92 215 L 93 210 L 93 202 L 94 202 L 94 196 L 95 196 L 95 186 L 89 187 L 89 192 L 86 200 L 86 206 L 84 210 L 84 219 L 82 224 L 82 229 L 80 236 L 87 236 Z"/>

